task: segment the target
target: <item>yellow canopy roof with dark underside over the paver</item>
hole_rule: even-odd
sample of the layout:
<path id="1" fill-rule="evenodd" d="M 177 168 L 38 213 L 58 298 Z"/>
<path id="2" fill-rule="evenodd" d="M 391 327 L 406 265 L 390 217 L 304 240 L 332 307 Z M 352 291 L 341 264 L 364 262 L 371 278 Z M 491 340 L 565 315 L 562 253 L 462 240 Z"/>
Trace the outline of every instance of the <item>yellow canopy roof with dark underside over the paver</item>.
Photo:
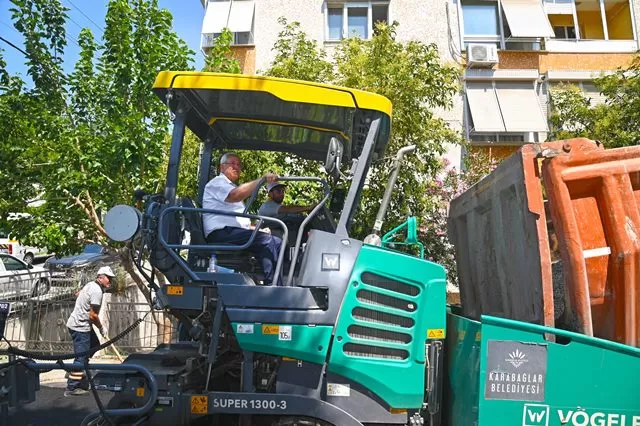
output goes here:
<path id="1" fill-rule="evenodd" d="M 389 137 L 391 102 L 361 90 L 307 81 L 239 74 L 161 72 L 153 86 L 166 101 L 171 89 L 188 102 L 187 126 L 201 139 L 216 138 L 222 149 L 292 152 L 324 159 L 331 137 L 345 154 L 358 155 L 367 124 L 382 118 L 376 151 Z M 171 103 L 177 108 L 178 96 Z M 364 134 L 363 134 L 364 133 Z M 362 139 L 362 141 L 360 141 Z"/>

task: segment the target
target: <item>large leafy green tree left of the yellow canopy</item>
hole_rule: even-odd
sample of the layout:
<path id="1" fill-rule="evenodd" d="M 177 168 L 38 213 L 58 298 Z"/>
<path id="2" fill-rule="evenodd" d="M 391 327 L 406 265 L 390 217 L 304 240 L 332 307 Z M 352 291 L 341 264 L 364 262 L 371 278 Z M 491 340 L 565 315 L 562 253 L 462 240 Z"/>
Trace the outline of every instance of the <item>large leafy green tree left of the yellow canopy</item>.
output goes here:
<path id="1" fill-rule="evenodd" d="M 12 234 L 59 254 L 106 242 L 108 208 L 131 203 L 137 187 L 159 186 L 170 121 L 151 87 L 159 70 L 189 69 L 193 52 L 157 0 L 111 0 L 101 43 L 82 30 L 80 58 L 67 75 L 61 2 L 12 3 L 34 84 L 0 75 L 0 126 L 11 129 L 0 142 L 0 177 L 9 182 L 0 189 L 0 217 L 31 213 L 12 223 Z M 33 199 L 45 203 L 27 207 Z"/>

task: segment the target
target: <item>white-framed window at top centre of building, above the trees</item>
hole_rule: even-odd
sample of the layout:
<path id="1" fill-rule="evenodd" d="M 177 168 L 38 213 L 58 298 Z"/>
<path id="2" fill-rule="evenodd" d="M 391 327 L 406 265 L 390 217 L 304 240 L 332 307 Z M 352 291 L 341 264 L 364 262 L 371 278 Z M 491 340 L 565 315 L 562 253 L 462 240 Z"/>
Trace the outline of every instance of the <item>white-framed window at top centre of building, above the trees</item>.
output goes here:
<path id="1" fill-rule="evenodd" d="M 325 3 L 325 39 L 371 38 L 377 22 L 389 23 L 388 1 Z"/>

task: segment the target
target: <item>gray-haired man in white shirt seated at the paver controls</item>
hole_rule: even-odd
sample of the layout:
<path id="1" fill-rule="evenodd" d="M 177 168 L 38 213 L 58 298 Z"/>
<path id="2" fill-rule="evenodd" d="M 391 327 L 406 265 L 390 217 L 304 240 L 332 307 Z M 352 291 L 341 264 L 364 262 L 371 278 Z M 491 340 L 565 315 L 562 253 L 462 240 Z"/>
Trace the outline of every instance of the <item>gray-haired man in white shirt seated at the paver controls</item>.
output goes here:
<path id="1" fill-rule="evenodd" d="M 220 159 L 220 174 L 211 179 L 204 188 L 202 208 L 220 210 L 229 213 L 243 213 L 243 200 L 247 199 L 258 185 L 260 179 L 236 185 L 240 178 L 242 163 L 233 153 L 226 153 Z M 272 184 L 278 180 L 273 173 L 264 175 Z M 204 213 L 202 218 L 204 235 L 212 244 L 242 245 L 249 241 L 253 231 L 251 220 L 246 217 L 227 216 Z M 265 284 L 271 285 L 274 280 L 275 266 L 282 240 L 265 232 L 258 232 L 249 250 L 256 255 L 264 269 Z"/>

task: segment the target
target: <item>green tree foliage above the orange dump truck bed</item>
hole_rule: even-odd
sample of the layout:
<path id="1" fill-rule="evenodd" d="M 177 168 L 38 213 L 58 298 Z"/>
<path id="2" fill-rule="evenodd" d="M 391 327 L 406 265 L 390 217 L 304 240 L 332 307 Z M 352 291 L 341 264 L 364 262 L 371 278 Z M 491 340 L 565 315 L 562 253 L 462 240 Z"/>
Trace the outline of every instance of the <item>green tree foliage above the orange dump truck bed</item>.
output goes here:
<path id="1" fill-rule="evenodd" d="M 593 105 L 575 86 L 551 91 L 550 139 L 588 137 L 607 148 L 640 143 L 640 57 L 594 83 L 606 98 L 604 105 Z"/>

